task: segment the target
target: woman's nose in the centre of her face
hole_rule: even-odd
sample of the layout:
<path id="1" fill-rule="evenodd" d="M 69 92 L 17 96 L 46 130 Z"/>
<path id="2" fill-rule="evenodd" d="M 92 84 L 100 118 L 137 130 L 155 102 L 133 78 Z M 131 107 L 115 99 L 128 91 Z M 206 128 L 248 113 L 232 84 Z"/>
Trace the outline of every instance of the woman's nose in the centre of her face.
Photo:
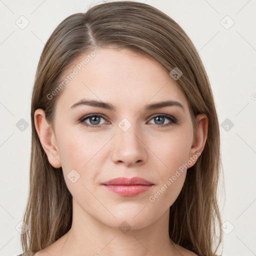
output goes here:
<path id="1" fill-rule="evenodd" d="M 141 165 L 145 163 L 146 158 L 146 145 L 141 132 L 135 125 L 131 125 L 126 131 L 117 126 L 112 144 L 112 161 L 130 166 Z"/>

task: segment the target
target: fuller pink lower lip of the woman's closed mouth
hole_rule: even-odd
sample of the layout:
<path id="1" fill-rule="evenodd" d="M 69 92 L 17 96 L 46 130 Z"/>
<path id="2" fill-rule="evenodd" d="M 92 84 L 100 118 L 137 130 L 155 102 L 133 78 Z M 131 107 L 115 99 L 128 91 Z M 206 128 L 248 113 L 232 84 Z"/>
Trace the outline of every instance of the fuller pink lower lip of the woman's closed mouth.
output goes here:
<path id="1" fill-rule="evenodd" d="M 147 191 L 153 185 L 104 185 L 108 190 L 123 195 L 134 196 Z"/>

